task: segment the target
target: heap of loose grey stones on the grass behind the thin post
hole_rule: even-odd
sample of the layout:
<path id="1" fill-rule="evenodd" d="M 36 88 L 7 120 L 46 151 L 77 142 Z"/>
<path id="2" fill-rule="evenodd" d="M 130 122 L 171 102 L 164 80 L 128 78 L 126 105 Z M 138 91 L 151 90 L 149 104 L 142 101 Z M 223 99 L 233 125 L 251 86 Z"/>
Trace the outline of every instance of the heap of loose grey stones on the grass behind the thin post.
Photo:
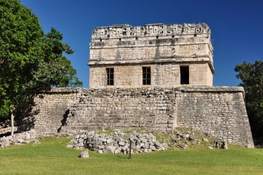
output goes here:
<path id="1" fill-rule="evenodd" d="M 129 153 L 131 144 L 131 153 L 148 153 L 152 151 L 161 151 L 168 148 L 167 143 L 159 143 L 152 133 L 122 133 L 120 130 L 114 133 L 95 133 L 76 135 L 69 142 L 68 148 L 84 149 L 87 148 L 98 153 Z"/>

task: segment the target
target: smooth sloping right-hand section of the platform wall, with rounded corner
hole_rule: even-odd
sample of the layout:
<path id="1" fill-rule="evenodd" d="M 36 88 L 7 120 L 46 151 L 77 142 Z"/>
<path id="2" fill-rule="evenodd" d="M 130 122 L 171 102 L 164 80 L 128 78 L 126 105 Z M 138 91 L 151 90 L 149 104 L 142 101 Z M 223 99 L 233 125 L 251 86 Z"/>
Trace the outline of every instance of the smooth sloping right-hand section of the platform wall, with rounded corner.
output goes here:
<path id="1" fill-rule="evenodd" d="M 242 88 L 185 89 L 176 98 L 176 126 L 206 131 L 228 142 L 253 147 L 243 94 Z"/>

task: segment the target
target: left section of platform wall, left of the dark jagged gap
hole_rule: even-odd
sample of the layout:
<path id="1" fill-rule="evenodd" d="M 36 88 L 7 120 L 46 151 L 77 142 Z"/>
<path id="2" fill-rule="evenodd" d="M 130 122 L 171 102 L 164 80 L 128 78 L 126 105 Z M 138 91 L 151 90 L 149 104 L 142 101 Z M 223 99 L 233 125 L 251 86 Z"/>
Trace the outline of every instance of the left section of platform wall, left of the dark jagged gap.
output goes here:
<path id="1" fill-rule="evenodd" d="M 38 133 L 57 133 L 69 114 L 69 108 L 80 101 L 80 88 L 52 88 L 34 99 L 33 128 Z M 66 122 L 66 121 L 65 121 Z"/>

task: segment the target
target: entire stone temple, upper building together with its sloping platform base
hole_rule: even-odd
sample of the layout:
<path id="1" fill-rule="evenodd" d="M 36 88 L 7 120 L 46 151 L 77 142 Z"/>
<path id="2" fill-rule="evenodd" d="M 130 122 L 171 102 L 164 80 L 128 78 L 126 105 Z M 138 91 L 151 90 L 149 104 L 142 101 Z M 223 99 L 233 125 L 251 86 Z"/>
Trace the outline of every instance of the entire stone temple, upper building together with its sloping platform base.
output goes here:
<path id="1" fill-rule="evenodd" d="M 206 24 L 113 25 L 93 30 L 90 88 L 37 94 L 25 127 L 39 134 L 192 128 L 254 147 L 242 87 L 212 86 Z"/>

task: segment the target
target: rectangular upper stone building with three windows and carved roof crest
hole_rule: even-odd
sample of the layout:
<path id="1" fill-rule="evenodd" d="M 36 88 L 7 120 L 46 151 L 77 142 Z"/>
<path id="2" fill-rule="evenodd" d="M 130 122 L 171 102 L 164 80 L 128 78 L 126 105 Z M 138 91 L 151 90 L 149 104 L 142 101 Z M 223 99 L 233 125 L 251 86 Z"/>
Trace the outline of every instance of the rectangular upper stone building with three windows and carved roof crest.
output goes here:
<path id="1" fill-rule="evenodd" d="M 98 27 L 90 43 L 90 88 L 212 86 L 206 24 Z"/>

